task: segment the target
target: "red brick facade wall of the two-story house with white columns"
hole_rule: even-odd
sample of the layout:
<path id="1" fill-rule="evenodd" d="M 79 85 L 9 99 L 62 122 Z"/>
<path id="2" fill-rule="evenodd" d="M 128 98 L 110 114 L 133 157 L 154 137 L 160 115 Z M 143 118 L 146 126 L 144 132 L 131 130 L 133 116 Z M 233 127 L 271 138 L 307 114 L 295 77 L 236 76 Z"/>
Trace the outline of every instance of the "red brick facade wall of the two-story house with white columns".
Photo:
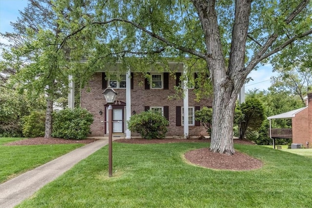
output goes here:
<path id="1" fill-rule="evenodd" d="M 93 136 L 104 135 L 104 105 L 105 98 L 102 95 L 101 88 L 101 73 L 95 73 L 89 85 L 81 90 L 81 107 L 87 109 L 94 115 L 94 122 L 91 126 Z M 131 90 L 131 112 L 141 113 L 144 111 L 144 106 L 162 107 L 169 106 L 169 128 L 167 136 L 183 135 L 183 126 L 176 126 L 176 106 L 183 107 L 183 99 L 175 98 L 168 99 L 168 96 L 175 95 L 176 80 L 173 77 L 169 78 L 169 90 L 144 88 L 144 77 L 141 73 L 134 73 L 134 89 Z M 117 92 L 117 99 L 126 102 L 126 89 L 115 89 Z M 195 102 L 195 93 L 189 90 L 189 107 L 212 106 L 212 98 L 202 99 L 200 102 Z M 102 111 L 102 115 L 98 112 Z M 189 126 L 189 135 L 207 135 L 206 129 L 200 126 Z M 132 135 L 137 135 L 132 133 Z"/>

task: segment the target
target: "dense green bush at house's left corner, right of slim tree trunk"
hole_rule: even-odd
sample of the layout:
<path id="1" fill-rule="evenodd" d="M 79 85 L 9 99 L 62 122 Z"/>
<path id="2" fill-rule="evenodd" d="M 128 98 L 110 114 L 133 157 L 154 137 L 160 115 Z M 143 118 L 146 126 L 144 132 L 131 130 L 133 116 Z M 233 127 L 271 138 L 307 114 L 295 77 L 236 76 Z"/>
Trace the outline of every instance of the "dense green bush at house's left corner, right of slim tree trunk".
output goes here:
<path id="1" fill-rule="evenodd" d="M 93 115 L 85 109 L 64 109 L 53 113 L 53 137 L 85 139 L 91 133 Z"/>

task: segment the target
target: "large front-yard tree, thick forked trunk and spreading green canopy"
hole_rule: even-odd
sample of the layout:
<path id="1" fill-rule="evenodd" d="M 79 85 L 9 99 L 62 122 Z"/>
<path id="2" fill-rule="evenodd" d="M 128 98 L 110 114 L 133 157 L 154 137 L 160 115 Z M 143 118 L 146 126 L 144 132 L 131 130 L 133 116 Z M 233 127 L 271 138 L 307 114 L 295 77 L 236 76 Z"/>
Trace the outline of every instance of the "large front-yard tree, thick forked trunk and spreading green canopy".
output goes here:
<path id="1" fill-rule="evenodd" d="M 53 41 L 57 50 L 43 53 L 44 57 L 57 58 L 57 66 L 62 66 L 68 56 L 60 51 L 68 48 L 69 57 L 86 58 L 85 77 L 116 61 L 124 63 L 124 70 L 136 67 L 143 72 L 147 71 L 146 64 L 156 61 L 185 61 L 188 57 L 188 69 L 204 61 L 214 97 L 210 149 L 227 154 L 234 153 L 234 107 L 248 74 L 260 62 L 312 33 L 310 0 L 46 3 L 51 3 L 56 14 L 58 33 L 42 31 L 34 38 L 58 41 Z M 42 39 L 39 42 L 46 47 L 51 44 Z M 41 63 L 45 67 L 51 64 Z"/>

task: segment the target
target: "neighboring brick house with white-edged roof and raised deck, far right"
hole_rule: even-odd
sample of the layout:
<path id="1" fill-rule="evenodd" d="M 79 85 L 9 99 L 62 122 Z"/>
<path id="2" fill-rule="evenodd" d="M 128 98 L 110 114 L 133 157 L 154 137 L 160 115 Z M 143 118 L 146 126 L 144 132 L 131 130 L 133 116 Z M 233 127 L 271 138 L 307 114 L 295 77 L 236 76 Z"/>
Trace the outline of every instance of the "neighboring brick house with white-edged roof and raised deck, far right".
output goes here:
<path id="1" fill-rule="evenodd" d="M 292 129 L 273 129 L 272 138 L 292 138 L 292 143 L 305 148 L 312 145 L 312 93 L 306 96 L 306 107 L 268 117 L 271 119 L 292 118 Z"/>

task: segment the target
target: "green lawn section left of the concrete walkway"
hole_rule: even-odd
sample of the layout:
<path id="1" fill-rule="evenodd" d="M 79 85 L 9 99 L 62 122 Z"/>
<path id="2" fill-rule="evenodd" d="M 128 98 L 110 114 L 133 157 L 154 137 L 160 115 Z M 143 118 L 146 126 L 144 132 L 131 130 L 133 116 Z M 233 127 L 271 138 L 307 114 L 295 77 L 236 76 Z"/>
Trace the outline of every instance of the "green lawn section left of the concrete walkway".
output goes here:
<path id="1" fill-rule="evenodd" d="M 34 169 L 83 144 L 3 146 L 25 138 L 0 138 L 0 183 Z"/>

